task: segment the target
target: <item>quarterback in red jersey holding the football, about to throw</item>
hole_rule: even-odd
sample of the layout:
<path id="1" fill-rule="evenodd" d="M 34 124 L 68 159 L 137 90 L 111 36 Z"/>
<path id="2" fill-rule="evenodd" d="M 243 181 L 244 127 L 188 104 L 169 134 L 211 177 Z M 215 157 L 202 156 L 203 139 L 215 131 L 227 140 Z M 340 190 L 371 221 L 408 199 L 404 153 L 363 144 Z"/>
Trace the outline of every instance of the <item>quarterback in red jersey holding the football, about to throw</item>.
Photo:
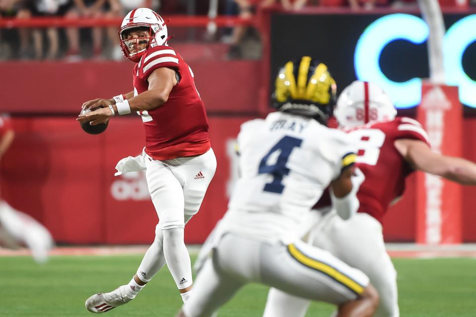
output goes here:
<path id="1" fill-rule="evenodd" d="M 134 299 L 165 263 L 183 301 L 188 299 L 192 274 L 183 230 L 198 212 L 216 169 L 204 104 L 192 70 L 167 44 L 166 21 L 148 8 L 134 9 L 124 17 L 119 37 L 125 58 L 135 63 L 133 91 L 85 102 L 83 109 L 94 111 L 77 120 L 97 125 L 115 115 L 137 112 L 141 116 L 145 128 L 143 153 L 119 161 L 116 175 L 146 170 L 159 223 L 154 243 L 131 281 L 86 301 L 86 308 L 97 314 Z M 196 177 L 198 174 L 201 177 Z"/>

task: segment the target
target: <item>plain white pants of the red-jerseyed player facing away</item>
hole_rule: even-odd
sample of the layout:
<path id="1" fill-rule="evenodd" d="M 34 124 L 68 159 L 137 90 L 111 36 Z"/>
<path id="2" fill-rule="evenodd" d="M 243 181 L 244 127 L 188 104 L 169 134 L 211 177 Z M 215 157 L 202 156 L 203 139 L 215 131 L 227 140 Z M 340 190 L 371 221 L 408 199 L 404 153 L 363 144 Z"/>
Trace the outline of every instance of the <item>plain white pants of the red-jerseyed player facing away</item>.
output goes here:
<path id="1" fill-rule="evenodd" d="M 312 216 L 319 217 L 315 211 Z M 397 272 L 385 250 L 382 225 L 366 213 L 341 219 L 335 211 L 325 215 L 311 231 L 309 242 L 362 270 L 380 295 L 374 316 L 398 317 Z M 309 301 L 271 289 L 263 317 L 304 317 Z"/>

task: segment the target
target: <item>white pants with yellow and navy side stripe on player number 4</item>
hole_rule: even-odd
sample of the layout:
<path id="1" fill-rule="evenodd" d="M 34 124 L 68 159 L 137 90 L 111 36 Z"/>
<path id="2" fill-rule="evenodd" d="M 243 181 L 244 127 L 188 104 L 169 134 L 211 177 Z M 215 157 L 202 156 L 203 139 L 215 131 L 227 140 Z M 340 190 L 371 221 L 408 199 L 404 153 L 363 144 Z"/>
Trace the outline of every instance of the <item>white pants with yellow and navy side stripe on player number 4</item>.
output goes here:
<path id="1" fill-rule="evenodd" d="M 199 272 L 183 312 L 187 317 L 210 317 L 248 282 L 341 305 L 357 299 L 368 278 L 329 252 L 299 240 L 272 245 L 226 233 Z"/>

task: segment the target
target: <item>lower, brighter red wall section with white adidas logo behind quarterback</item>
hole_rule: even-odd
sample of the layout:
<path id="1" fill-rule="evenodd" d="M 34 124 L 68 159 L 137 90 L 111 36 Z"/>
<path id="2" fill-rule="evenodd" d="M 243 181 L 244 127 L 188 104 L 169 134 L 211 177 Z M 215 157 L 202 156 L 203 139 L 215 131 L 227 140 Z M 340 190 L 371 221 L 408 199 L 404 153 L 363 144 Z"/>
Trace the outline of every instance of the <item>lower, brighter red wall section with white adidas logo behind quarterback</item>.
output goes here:
<path id="1" fill-rule="evenodd" d="M 121 158 L 142 151 L 141 120 L 114 118 L 106 132 L 89 135 L 74 119 L 12 120 L 16 138 L 0 162 L 2 197 L 44 223 L 59 242 L 150 243 L 158 217 L 144 175 L 114 176 Z M 203 242 L 226 211 L 230 175 L 226 144 L 249 119 L 210 118 L 217 172 L 200 212 L 187 225 L 189 243 Z"/>

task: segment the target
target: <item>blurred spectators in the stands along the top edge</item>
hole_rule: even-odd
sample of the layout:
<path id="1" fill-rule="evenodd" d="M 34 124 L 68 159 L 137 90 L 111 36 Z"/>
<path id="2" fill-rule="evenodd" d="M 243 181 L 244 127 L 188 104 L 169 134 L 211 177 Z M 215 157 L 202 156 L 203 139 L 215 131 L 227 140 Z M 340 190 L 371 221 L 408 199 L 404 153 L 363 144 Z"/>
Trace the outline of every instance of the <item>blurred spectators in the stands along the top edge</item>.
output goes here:
<path id="1" fill-rule="evenodd" d="M 444 1 L 444 0 L 441 0 Z M 474 4 L 476 0 L 472 0 Z M 136 7 L 149 7 L 162 15 L 207 14 L 209 0 L 0 0 L 0 19 L 31 17 L 121 18 Z M 251 19 L 261 8 L 281 6 L 285 10 L 305 10 L 311 6 L 348 7 L 372 10 L 376 7 L 416 7 L 416 0 L 218 0 L 219 15 Z M 122 60 L 118 27 L 92 29 L 68 27 L 0 29 L 0 60 Z M 196 38 L 196 37 L 194 37 Z M 185 37 L 190 40 L 190 37 Z M 217 39 L 229 45 L 227 58 L 259 58 L 259 34 L 238 26 L 203 39 Z M 176 41 L 180 40 L 176 38 Z M 177 43 L 177 42 L 176 42 Z M 258 53 L 254 54 L 254 51 Z"/>

